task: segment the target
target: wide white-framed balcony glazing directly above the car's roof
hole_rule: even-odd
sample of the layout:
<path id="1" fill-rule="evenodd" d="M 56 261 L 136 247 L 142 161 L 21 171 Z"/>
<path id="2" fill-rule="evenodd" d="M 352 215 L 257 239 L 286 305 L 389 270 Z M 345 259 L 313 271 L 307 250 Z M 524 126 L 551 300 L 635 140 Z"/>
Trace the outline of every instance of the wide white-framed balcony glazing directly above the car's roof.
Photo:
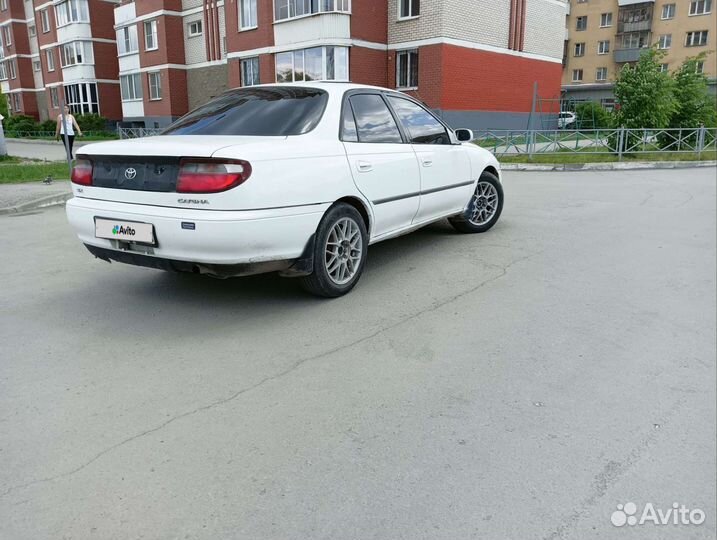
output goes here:
<path id="1" fill-rule="evenodd" d="M 348 47 L 312 47 L 276 53 L 276 82 L 347 81 Z"/>

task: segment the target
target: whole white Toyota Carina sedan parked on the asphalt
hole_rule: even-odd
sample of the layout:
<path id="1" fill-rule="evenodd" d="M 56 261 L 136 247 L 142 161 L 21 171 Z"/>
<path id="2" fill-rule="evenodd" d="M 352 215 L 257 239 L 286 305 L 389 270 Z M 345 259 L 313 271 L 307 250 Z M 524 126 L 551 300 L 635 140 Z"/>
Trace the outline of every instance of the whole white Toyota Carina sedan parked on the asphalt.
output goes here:
<path id="1" fill-rule="evenodd" d="M 162 135 L 84 146 L 67 216 L 96 257 L 356 285 L 369 244 L 500 217 L 495 157 L 405 94 L 348 83 L 231 90 Z"/>

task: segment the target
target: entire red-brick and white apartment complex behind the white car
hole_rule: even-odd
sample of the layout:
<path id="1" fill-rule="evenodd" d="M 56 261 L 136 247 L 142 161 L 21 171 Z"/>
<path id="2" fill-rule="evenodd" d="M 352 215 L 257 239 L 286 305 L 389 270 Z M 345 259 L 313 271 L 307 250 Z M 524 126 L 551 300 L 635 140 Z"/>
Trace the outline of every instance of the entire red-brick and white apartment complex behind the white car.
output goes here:
<path id="1" fill-rule="evenodd" d="M 59 112 L 63 92 L 77 112 L 162 127 L 228 88 L 328 79 L 404 90 L 456 126 L 525 128 L 536 84 L 560 95 L 564 0 L 5 4 L 0 27 L 24 48 L 3 50 L 17 78 L 0 84 L 13 112 L 38 118 Z"/>

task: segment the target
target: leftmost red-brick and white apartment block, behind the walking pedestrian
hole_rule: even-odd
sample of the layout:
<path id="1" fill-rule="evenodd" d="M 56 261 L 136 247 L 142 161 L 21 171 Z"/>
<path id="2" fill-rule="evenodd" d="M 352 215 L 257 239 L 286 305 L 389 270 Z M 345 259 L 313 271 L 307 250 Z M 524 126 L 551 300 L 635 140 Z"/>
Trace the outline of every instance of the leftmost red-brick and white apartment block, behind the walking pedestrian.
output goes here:
<path id="1" fill-rule="evenodd" d="M 113 2 L 0 0 L 0 88 L 11 114 L 122 119 Z"/>

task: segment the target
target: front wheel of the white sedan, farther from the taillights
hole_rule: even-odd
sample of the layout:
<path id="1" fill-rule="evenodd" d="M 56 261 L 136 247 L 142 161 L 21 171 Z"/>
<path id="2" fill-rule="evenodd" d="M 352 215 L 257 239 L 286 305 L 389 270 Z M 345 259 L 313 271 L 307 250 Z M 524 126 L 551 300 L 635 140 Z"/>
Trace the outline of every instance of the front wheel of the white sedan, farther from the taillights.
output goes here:
<path id="1" fill-rule="evenodd" d="M 448 219 L 462 233 L 485 232 L 496 224 L 503 211 L 503 186 L 493 173 L 484 171 L 465 212 Z"/>

